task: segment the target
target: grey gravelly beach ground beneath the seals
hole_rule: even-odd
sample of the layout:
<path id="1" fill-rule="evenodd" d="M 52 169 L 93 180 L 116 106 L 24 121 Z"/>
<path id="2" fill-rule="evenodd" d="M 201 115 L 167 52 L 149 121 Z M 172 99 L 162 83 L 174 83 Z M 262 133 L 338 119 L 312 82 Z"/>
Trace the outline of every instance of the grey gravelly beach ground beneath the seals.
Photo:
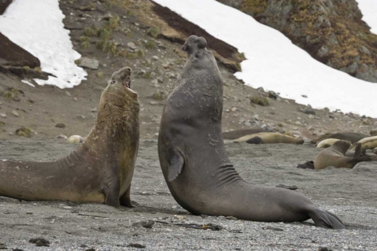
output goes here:
<path id="1" fill-rule="evenodd" d="M 0 141 L 0 159 L 53 160 L 76 146 L 57 141 Z M 377 163 L 361 163 L 353 170 L 297 169 L 319 152 L 312 145 L 248 145 L 226 143 L 241 176 L 255 184 L 297 185 L 326 210 L 333 210 L 346 230 L 328 230 L 305 223 L 263 223 L 223 216 L 195 216 L 172 198 L 163 179 L 157 142 L 142 140 L 133 178 L 131 199 L 136 208 L 118 210 L 100 204 L 66 201 L 26 202 L 0 197 L 0 248 L 23 250 L 377 250 Z M 20 181 L 22 182 L 22 181 Z M 237 206 L 237 205 L 235 205 Z M 79 215 L 85 214 L 85 215 Z M 92 216 L 86 216 L 92 215 Z M 97 216 L 97 217 L 96 217 Z M 98 217 L 101 216 L 101 217 Z M 220 231 L 190 229 L 169 223 L 213 223 Z M 43 237 L 50 247 L 29 243 Z"/>

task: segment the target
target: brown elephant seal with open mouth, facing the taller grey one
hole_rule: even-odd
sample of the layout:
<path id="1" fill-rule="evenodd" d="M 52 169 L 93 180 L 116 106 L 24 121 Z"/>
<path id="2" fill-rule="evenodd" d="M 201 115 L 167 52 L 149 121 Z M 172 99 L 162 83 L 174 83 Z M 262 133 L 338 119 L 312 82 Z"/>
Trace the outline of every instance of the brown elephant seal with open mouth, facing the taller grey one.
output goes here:
<path id="1" fill-rule="evenodd" d="M 139 100 L 131 68 L 115 72 L 101 95 L 85 141 L 56 161 L 0 161 L 0 196 L 132 207 L 131 180 L 139 145 Z"/>

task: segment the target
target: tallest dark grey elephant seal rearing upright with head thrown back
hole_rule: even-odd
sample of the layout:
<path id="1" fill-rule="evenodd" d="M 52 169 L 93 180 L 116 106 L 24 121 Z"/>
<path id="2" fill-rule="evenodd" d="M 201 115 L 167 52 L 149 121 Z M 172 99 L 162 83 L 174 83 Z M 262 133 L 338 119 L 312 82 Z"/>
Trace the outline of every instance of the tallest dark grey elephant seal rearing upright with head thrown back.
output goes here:
<path id="1" fill-rule="evenodd" d="M 221 134 L 223 80 L 206 40 L 190 36 L 188 58 L 164 107 L 158 155 L 174 199 L 193 214 L 269 222 L 305 221 L 343 229 L 334 214 L 303 194 L 244 181 L 230 163 Z"/>

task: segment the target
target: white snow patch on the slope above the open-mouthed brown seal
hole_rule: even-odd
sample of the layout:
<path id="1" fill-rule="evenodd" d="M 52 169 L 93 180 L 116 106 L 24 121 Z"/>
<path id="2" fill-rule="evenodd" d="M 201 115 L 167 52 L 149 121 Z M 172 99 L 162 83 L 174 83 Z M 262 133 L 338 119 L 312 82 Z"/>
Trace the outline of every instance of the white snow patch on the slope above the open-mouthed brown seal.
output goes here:
<path id="1" fill-rule="evenodd" d="M 73 50 L 65 16 L 58 0 L 14 0 L 0 16 L 0 32 L 41 61 L 42 71 L 53 74 L 39 85 L 71 88 L 86 79 L 86 72 L 74 61 L 81 55 Z"/>

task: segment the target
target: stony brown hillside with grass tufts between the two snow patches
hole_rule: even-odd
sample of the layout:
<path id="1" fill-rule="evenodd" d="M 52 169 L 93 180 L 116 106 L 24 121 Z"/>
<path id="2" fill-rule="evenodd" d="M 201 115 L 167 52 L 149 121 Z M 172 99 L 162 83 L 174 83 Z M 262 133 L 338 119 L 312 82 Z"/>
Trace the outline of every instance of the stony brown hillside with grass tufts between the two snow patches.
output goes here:
<path id="1" fill-rule="evenodd" d="M 209 41 L 224 78 L 224 131 L 255 127 L 313 138 L 339 131 L 368 134 L 377 127 L 374 118 L 305 108 L 244 85 L 233 76 L 242 60 L 234 47 L 152 1 L 61 0 L 59 5 L 73 47 L 82 55 L 77 64 L 87 71 L 87 81 L 71 89 L 31 87 L 21 80 L 33 82 L 32 76 L 0 72 L 1 139 L 86 136 L 97 118 L 102 91 L 112 73 L 124 66 L 133 68 L 141 137 L 156 138 L 166 97 L 185 63 L 180 48 L 192 34 Z M 25 66 L 17 67 L 32 69 Z"/>

